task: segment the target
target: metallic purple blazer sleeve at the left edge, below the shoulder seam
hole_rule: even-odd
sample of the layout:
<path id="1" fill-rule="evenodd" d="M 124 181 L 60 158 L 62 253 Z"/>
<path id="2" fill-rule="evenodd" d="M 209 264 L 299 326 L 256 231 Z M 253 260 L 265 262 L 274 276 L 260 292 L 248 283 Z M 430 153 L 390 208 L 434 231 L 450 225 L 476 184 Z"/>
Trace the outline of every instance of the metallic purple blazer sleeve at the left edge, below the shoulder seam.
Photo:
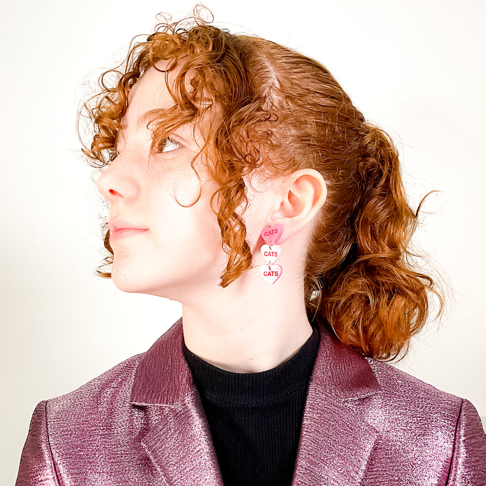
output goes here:
<path id="1" fill-rule="evenodd" d="M 16 486 L 59 486 L 49 445 L 46 407 L 47 400 L 35 407 L 20 457 Z"/>

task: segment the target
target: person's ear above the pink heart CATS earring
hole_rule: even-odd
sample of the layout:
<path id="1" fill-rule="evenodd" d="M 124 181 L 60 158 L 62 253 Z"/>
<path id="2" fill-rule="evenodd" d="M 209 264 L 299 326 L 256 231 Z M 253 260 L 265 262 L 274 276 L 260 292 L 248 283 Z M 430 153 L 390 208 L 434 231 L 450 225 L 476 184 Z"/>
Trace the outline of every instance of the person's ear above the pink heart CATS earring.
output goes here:
<path id="1" fill-rule="evenodd" d="M 283 196 L 276 203 L 278 209 L 270 215 L 270 226 L 279 223 L 284 227 L 279 243 L 307 226 L 327 197 L 326 181 L 314 169 L 295 171 L 282 184 L 282 190 Z"/>

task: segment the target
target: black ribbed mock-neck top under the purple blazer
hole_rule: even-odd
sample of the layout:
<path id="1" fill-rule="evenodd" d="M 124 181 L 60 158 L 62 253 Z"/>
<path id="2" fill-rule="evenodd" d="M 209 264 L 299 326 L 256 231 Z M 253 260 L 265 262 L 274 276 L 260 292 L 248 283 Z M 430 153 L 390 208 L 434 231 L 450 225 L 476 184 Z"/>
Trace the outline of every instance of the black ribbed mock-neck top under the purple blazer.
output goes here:
<path id="1" fill-rule="evenodd" d="M 202 360 L 183 343 L 225 486 L 290 486 L 319 332 L 285 363 L 233 373 Z"/>

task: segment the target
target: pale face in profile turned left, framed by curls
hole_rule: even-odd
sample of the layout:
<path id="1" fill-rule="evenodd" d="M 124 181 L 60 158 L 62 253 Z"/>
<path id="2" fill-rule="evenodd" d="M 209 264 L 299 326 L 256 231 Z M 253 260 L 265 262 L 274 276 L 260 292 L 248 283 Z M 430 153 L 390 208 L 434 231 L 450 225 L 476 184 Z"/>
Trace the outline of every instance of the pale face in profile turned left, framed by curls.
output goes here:
<path id="1" fill-rule="evenodd" d="M 169 77 L 169 83 L 171 77 Z M 151 154 L 151 131 L 141 117 L 174 102 L 165 75 L 148 69 L 130 91 L 128 109 L 117 139 L 119 155 L 98 179 L 98 189 L 110 205 L 110 245 L 114 252 L 112 279 L 125 292 L 181 300 L 181 293 L 219 283 L 226 267 L 221 231 L 209 198 L 213 183 L 205 182 L 196 164 L 203 194 L 191 160 L 199 151 L 200 134 L 192 126 L 177 129 L 159 153 Z"/>

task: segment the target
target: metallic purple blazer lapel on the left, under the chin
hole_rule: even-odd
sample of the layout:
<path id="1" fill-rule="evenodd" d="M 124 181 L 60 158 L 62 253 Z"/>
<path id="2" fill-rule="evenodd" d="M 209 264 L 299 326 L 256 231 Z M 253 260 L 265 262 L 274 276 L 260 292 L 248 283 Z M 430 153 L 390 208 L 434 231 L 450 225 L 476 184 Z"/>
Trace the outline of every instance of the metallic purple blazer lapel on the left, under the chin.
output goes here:
<path id="1" fill-rule="evenodd" d="M 144 408 L 151 424 L 141 445 L 168 486 L 223 486 L 182 339 L 179 319 L 137 367 L 131 403 Z"/>

